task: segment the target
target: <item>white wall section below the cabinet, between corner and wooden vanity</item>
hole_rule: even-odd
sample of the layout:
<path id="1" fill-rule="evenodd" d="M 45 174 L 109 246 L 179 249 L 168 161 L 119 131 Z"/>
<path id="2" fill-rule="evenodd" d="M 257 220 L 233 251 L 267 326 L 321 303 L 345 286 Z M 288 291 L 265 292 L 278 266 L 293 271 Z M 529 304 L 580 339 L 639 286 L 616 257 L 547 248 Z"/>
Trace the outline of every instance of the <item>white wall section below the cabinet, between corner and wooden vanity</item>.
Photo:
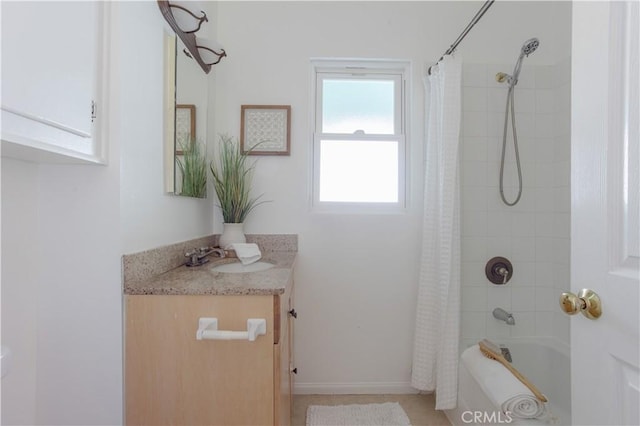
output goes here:
<path id="1" fill-rule="evenodd" d="M 40 166 L 39 424 L 117 424 L 122 398 L 118 146 L 110 166 Z"/>

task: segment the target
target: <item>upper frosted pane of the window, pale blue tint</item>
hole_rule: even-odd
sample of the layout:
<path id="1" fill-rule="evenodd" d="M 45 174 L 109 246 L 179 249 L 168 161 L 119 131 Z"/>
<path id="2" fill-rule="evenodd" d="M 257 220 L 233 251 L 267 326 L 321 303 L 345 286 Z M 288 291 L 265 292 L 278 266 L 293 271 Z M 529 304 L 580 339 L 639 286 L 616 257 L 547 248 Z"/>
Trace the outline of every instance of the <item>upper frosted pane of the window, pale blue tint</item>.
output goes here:
<path id="1" fill-rule="evenodd" d="M 394 81 L 322 80 L 322 133 L 392 135 Z"/>

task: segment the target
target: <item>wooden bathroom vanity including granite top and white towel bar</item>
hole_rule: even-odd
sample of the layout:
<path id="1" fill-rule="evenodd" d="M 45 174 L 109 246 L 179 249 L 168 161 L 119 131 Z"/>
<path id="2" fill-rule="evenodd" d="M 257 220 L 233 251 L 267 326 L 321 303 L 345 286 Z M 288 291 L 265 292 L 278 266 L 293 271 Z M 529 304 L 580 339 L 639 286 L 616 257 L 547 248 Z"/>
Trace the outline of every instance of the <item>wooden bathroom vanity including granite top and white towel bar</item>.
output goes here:
<path id="1" fill-rule="evenodd" d="M 237 261 L 225 258 L 144 279 L 125 264 L 126 424 L 289 425 L 295 257 L 263 250 L 265 271 L 217 272 Z M 265 320 L 262 334 L 247 339 L 248 319 Z"/>

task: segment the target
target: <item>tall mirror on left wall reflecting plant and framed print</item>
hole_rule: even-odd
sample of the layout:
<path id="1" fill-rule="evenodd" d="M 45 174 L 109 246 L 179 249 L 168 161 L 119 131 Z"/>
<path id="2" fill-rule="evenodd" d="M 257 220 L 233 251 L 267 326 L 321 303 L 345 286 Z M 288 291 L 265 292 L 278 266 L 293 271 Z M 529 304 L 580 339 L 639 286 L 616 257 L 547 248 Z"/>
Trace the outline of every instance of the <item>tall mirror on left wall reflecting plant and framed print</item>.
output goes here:
<path id="1" fill-rule="evenodd" d="M 167 35 L 165 49 L 165 188 L 206 198 L 207 75 L 175 35 Z"/>

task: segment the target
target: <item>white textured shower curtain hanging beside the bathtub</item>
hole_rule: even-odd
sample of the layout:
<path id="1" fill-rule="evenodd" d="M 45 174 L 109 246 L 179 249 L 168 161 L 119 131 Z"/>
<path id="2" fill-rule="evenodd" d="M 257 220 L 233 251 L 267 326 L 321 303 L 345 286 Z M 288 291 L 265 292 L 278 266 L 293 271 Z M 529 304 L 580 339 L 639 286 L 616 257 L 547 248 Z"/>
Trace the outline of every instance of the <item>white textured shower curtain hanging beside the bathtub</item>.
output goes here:
<path id="1" fill-rule="evenodd" d="M 445 56 L 425 77 L 425 190 L 411 385 L 456 407 L 460 338 L 459 136 L 462 60 Z"/>

